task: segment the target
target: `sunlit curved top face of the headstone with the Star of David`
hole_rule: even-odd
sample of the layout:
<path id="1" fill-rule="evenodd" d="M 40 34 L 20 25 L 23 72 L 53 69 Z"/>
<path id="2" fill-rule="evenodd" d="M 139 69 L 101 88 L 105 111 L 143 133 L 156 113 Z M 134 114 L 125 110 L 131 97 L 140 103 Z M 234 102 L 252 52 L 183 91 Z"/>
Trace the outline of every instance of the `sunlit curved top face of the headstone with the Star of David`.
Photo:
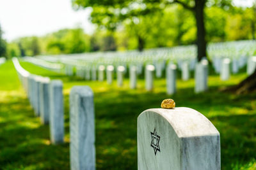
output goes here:
<path id="1" fill-rule="evenodd" d="M 179 138 L 220 134 L 204 115 L 191 108 L 154 108 L 143 111 L 143 113 L 146 112 L 158 113 L 164 117 L 172 125 Z"/>

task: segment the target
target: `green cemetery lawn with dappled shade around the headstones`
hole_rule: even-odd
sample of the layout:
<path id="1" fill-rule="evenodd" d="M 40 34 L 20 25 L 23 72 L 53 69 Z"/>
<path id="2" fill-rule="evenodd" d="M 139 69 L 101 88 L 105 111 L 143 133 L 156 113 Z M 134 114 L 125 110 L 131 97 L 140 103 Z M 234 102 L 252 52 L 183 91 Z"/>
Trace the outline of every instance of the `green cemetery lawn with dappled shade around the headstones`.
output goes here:
<path id="1" fill-rule="evenodd" d="M 143 79 L 138 89 L 116 81 L 84 81 L 53 73 L 21 62 L 31 73 L 63 80 L 65 96 L 65 143 L 51 145 L 49 126 L 41 125 L 20 86 L 12 61 L 0 66 L 0 169 L 69 169 L 68 94 L 74 85 L 88 85 L 94 92 L 97 169 L 137 169 L 136 122 L 143 110 L 159 108 L 166 98 L 177 107 L 200 111 L 211 120 L 221 135 L 221 169 L 256 168 L 256 93 L 223 93 L 219 89 L 235 85 L 246 77 L 239 73 L 228 81 L 209 76 L 209 91 L 194 94 L 194 80 L 177 81 L 177 94 L 166 95 L 164 78 L 146 92 Z M 150 145 L 150 144 L 148 144 Z M 153 150 L 152 150 L 153 152 Z"/>

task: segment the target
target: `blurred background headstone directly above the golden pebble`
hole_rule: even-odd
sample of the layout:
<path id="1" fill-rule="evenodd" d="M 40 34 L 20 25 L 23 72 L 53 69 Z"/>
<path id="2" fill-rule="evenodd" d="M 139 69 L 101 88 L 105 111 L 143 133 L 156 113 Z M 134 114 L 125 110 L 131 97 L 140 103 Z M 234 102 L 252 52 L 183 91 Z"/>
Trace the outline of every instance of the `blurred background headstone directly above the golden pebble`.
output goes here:
<path id="1" fill-rule="evenodd" d="M 167 94 L 175 94 L 176 92 L 176 71 L 177 66 L 175 64 L 170 64 L 166 68 Z"/>

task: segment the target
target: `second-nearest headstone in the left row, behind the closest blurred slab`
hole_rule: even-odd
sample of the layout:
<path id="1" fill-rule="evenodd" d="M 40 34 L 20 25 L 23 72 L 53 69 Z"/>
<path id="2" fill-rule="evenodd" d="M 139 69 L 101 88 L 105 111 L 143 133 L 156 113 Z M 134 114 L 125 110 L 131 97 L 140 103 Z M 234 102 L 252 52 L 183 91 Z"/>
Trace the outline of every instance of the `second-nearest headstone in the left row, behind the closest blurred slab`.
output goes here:
<path id="1" fill-rule="evenodd" d="M 64 108 L 63 85 L 61 80 L 52 80 L 50 84 L 50 133 L 51 142 L 63 143 L 64 138 Z"/>

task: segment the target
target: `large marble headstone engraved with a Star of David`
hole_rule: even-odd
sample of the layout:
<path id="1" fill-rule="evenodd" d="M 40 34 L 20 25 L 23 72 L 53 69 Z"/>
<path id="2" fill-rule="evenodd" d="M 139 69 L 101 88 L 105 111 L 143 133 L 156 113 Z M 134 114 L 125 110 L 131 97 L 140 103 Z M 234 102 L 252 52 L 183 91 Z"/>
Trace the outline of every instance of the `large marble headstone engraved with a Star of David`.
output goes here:
<path id="1" fill-rule="evenodd" d="M 220 169 L 220 133 L 196 110 L 145 110 L 137 135 L 138 169 Z"/>

